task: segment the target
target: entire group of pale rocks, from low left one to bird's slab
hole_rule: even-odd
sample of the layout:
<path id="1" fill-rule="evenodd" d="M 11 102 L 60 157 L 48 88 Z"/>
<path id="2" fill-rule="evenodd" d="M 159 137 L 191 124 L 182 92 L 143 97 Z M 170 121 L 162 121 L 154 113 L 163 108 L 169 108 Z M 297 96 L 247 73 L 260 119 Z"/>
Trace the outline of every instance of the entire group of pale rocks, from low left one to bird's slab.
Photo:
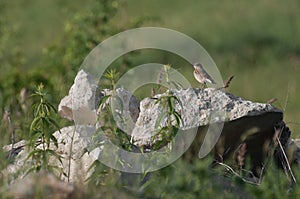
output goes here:
<path id="1" fill-rule="evenodd" d="M 202 145 L 201 140 L 205 135 L 203 131 L 209 125 L 219 123 L 224 123 L 221 136 L 223 146 L 220 147 L 217 143 L 215 153 L 222 157 L 222 161 L 241 143 L 247 145 L 247 152 L 252 158 L 255 158 L 255 153 L 259 151 L 255 148 L 255 143 L 259 143 L 262 147 L 264 143 L 272 139 L 274 126 L 282 121 L 283 115 L 282 111 L 270 104 L 251 102 L 221 89 L 170 90 L 170 93 L 158 94 L 140 102 L 126 89 L 118 88 L 115 93 L 123 105 L 121 106 L 122 110 L 120 110 L 120 106 L 116 106 L 114 112 L 119 113 L 125 121 L 125 123 L 117 121 L 119 128 L 131 135 L 134 145 L 146 147 L 151 147 L 155 142 L 152 137 L 155 133 L 157 118 L 161 112 L 166 111 L 161 103 L 156 103 L 157 99 L 170 93 L 176 96 L 180 103 L 175 103 L 175 110 L 182 118 L 179 128 L 183 131 L 196 128 L 198 132 L 191 149 L 189 149 L 190 153 L 196 154 L 196 156 L 191 158 L 197 158 L 199 147 Z M 97 121 L 98 115 L 101 114 L 101 108 L 99 109 L 98 106 L 100 100 L 108 95 L 112 95 L 112 91 L 99 91 L 92 77 L 81 70 L 78 72 L 68 96 L 61 100 L 58 107 L 59 114 L 73 120 L 76 124 L 64 127 L 54 133 L 59 143 L 56 150 L 63 157 L 62 164 L 57 164 L 67 174 L 62 177 L 62 180 L 83 182 L 89 176 L 88 168 L 96 158 L 93 154 L 86 153 L 91 138 L 91 134 L 87 132 L 92 132 L 97 125 L 103 125 L 101 121 Z M 159 126 L 166 125 L 166 118 L 162 119 Z M 86 128 L 90 128 L 90 131 L 84 131 Z M 255 150 L 251 151 L 251 147 L 254 147 Z M 194 149 L 195 151 L 193 151 Z M 10 146 L 6 146 L 5 150 L 10 150 Z M 259 152 L 264 153 L 263 149 L 260 150 L 262 151 Z M 28 162 L 25 162 L 25 158 L 28 152 L 24 147 L 18 152 L 14 163 L 9 165 L 4 173 L 16 173 L 26 168 Z M 257 164 L 260 164 L 260 161 L 263 159 L 260 158 Z"/>

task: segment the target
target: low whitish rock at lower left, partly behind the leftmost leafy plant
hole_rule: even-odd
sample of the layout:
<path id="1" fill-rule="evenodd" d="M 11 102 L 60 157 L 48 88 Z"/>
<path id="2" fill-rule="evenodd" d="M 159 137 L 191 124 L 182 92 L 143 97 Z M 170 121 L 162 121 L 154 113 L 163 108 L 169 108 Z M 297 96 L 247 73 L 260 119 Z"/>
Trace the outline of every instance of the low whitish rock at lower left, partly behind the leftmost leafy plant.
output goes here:
<path id="1" fill-rule="evenodd" d="M 50 148 L 61 155 L 62 164 L 57 159 L 52 159 L 49 164 L 63 168 L 63 172 L 69 177 L 62 175 L 61 179 L 66 182 L 84 182 L 93 171 L 91 169 L 91 172 L 88 172 L 96 158 L 86 153 L 87 143 L 80 136 L 83 133 L 87 135 L 86 132 L 86 128 L 75 129 L 74 126 L 69 126 L 53 134 L 58 141 L 58 148 L 56 149 L 53 144 L 50 145 Z M 20 143 L 24 143 L 24 141 Z M 16 143 L 16 146 L 20 145 L 20 143 Z M 5 146 L 4 149 L 10 150 L 10 146 Z M 18 173 L 20 177 L 23 177 L 31 164 L 31 159 L 26 161 L 27 156 L 28 150 L 24 146 L 23 150 L 15 157 L 14 162 L 2 171 L 2 173 L 5 176 Z"/>

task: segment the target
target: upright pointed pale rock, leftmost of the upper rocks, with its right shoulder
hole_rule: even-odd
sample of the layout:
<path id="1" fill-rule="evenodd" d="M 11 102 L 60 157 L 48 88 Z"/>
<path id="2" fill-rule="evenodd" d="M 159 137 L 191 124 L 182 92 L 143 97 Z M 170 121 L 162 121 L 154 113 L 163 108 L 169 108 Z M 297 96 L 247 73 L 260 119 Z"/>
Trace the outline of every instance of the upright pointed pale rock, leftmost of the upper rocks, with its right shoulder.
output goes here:
<path id="1" fill-rule="evenodd" d="M 98 110 L 100 99 L 103 96 L 112 95 L 111 90 L 104 89 L 97 92 L 97 88 L 93 77 L 84 70 L 80 70 L 68 96 L 65 96 L 58 106 L 60 116 L 74 120 L 79 125 L 95 125 L 97 114 L 101 113 L 101 109 Z M 119 113 L 119 115 L 114 114 L 115 119 L 121 129 L 131 132 L 139 114 L 139 101 L 123 88 L 117 88 L 116 95 L 122 101 L 123 110 L 118 110 L 118 106 L 114 109 L 113 114 Z M 122 119 L 117 116 L 121 116 Z M 121 122 L 121 120 L 126 122 Z"/>

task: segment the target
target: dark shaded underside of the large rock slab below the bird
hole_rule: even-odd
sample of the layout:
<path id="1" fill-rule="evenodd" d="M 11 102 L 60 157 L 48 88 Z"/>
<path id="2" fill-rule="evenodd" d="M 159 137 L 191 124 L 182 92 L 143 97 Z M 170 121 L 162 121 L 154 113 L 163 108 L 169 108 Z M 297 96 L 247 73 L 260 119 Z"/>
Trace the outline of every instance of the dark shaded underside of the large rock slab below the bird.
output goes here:
<path id="1" fill-rule="evenodd" d="M 245 144 L 245 156 L 250 158 L 251 171 L 258 177 L 261 175 L 264 159 L 270 155 L 270 149 L 274 146 L 274 126 L 282 120 L 279 112 L 268 112 L 257 116 L 244 116 L 237 120 L 226 122 L 221 136 L 216 143 L 213 153 L 215 163 L 228 162 L 233 168 L 238 168 L 238 150 Z M 197 136 L 191 147 L 184 154 L 185 159 L 192 162 L 203 145 L 207 126 L 199 127 Z M 242 163 L 245 166 L 245 162 Z"/>

